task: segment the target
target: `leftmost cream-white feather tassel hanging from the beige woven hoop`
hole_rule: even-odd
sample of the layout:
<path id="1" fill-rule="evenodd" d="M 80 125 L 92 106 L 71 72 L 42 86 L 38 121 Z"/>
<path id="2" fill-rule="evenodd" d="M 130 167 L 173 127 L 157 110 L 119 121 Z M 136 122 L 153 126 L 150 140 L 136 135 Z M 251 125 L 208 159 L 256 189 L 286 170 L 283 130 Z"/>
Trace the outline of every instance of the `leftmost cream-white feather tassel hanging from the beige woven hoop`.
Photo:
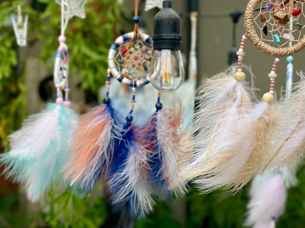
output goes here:
<path id="1" fill-rule="evenodd" d="M 181 178 L 196 179 L 202 192 L 229 185 L 249 157 L 251 143 L 244 141 L 251 88 L 229 72 L 210 78 L 201 89 L 194 114 L 186 166 Z M 239 134 L 241 133 L 241 134 Z M 241 143 L 242 142 L 242 143 Z"/>

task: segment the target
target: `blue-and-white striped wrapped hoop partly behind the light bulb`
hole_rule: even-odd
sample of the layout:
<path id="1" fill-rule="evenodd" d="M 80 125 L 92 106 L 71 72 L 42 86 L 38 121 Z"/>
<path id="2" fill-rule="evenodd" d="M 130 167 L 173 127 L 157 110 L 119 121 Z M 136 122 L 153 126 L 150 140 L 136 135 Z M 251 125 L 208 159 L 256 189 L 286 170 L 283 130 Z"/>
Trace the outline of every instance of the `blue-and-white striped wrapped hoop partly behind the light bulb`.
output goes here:
<path id="1" fill-rule="evenodd" d="M 135 37 L 136 36 L 136 37 Z M 117 78 L 118 81 L 120 81 L 124 85 L 129 85 L 131 87 L 142 87 L 144 85 L 147 85 L 150 82 L 150 78 L 147 75 L 145 78 L 139 79 L 139 80 L 133 80 L 129 78 L 125 78 L 120 72 L 117 70 L 117 66 L 115 63 L 115 56 L 117 53 L 117 49 L 120 47 L 120 45 L 123 45 L 125 42 L 129 40 L 136 40 L 139 37 L 139 40 L 142 40 L 143 42 L 146 42 L 149 45 L 152 45 L 152 38 L 145 34 L 138 34 L 138 33 L 126 33 L 119 38 L 117 38 L 116 41 L 111 45 L 109 54 L 108 54 L 108 65 L 109 69 L 111 71 L 111 74 L 113 77 Z M 161 68 L 161 65 L 160 65 Z M 159 72 L 156 72 L 156 74 L 152 75 L 152 79 L 156 78 L 158 76 Z"/>

